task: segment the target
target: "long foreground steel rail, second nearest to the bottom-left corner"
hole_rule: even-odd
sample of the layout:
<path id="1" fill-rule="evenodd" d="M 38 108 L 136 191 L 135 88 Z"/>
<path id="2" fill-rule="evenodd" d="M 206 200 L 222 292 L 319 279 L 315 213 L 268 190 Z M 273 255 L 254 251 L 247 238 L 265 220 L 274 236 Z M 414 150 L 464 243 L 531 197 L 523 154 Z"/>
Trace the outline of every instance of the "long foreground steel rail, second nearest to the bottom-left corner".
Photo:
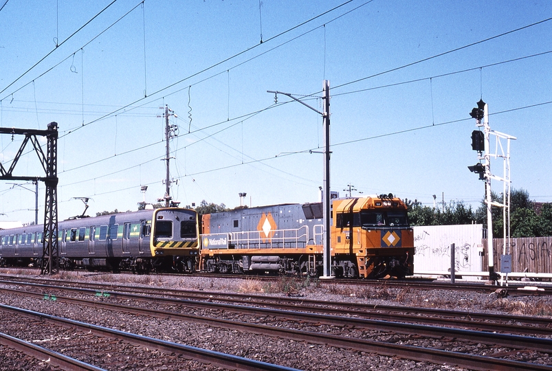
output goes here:
<path id="1" fill-rule="evenodd" d="M 27 315 L 30 317 L 38 317 L 45 319 L 49 322 L 56 324 L 63 324 L 65 326 L 74 326 L 81 330 L 88 330 L 95 335 L 100 335 L 104 337 L 112 337 L 114 339 L 123 339 L 124 341 L 129 341 L 131 344 L 138 346 L 144 346 L 149 349 L 156 349 L 161 352 L 175 352 L 181 354 L 184 357 L 190 357 L 197 361 L 203 363 L 210 363 L 215 366 L 223 368 L 234 368 L 236 370 L 267 370 L 267 371 L 299 371 L 294 368 L 288 368 L 285 366 L 278 366 L 272 363 L 255 361 L 253 359 L 247 359 L 243 357 L 238 357 L 235 355 L 228 355 L 222 352 L 215 352 L 214 350 L 207 350 L 202 348 L 197 348 L 194 346 L 186 346 L 184 344 L 177 344 L 171 341 L 155 339 L 154 337 L 146 337 L 142 335 L 137 335 L 133 333 L 126 333 L 124 331 L 115 330 L 113 328 L 107 328 L 103 326 L 98 326 L 94 324 L 87 324 L 85 322 L 75 321 L 74 319 L 67 319 L 62 317 L 56 317 L 54 315 L 48 315 L 46 313 L 39 313 L 35 311 L 29 311 L 23 308 L 16 308 L 14 306 L 8 306 L 0 304 L 0 309 L 4 311 L 12 311 L 20 315 Z"/>

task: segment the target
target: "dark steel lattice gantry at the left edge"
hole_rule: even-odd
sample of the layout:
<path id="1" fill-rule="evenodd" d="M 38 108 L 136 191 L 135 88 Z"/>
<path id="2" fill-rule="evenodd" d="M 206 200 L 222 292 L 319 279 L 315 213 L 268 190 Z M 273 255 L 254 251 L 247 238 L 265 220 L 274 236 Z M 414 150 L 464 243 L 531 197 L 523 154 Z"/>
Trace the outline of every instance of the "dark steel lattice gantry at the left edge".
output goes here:
<path id="1" fill-rule="evenodd" d="M 58 250 L 58 124 L 50 122 L 47 130 L 23 129 L 23 128 L 0 128 L 0 134 L 10 134 L 12 139 L 14 135 L 25 135 L 10 168 L 7 170 L 0 163 L 0 180 L 21 180 L 21 181 L 43 181 L 46 186 L 45 212 L 44 212 L 44 232 L 43 232 L 43 254 L 42 254 L 42 274 L 54 274 L 59 269 L 59 250 Z M 47 150 L 44 153 L 43 148 L 38 142 L 38 137 L 47 138 Z M 32 143 L 34 152 L 41 161 L 45 172 L 45 177 L 18 177 L 13 175 L 13 170 L 17 161 L 23 155 L 23 150 L 28 142 Z"/>

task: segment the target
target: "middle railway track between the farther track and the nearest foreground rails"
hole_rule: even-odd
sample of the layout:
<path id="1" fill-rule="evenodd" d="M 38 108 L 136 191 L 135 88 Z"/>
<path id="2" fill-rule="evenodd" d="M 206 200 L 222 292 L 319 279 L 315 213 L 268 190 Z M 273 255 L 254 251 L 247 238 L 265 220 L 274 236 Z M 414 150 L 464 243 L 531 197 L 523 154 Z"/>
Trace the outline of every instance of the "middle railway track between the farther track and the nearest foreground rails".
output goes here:
<path id="1" fill-rule="evenodd" d="M 13 282 L 15 284 L 15 282 Z M 307 313 L 304 311 L 291 311 L 291 310 L 282 310 L 274 308 L 260 308 L 253 306 L 243 306 L 243 303 L 239 305 L 234 304 L 221 304 L 214 302 L 206 302 L 199 300 L 184 300 L 182 298 L 175 297 L 160 297 L 160 296 L 151 296 L 151 293 L 122 293 L 122 292 L 107 292 L 107 291 L 96 291 L 93 289 L 80 289 L 80 288 L 67 288 L 63 286 L 53 286 L 47 288 L 45 285 L 35 286 L 42 290 L 48 289 L 51 291 L 71 291 L 73 293 L 78 293 L 79 295 L 86 295 L 88 297 L 94 296 L 96 300 L 86 300 L 79 299 L 75 297 L 61 297 L 56 296 L 58 301 L 67 301 L 73 302 L 76 305 L 87 305 L 93 306 L 94 308 L 108 308 L 108 311 L 118 310 L 124 311 L 125 313 L 132 313 L 134 315 L 158 315 L 160 317 L 170 317 L 179 319 L 186 322 L 195 322 L 210 324 L 210 326 L 221 326 L 225 328 L 231 328 L 232 330 L 242 330 L 250 331 L 254 333 L 259 333 L 261 335 L 269 336 L 278 336 L 278 337 L 287 337 L 289 339 L 298 339 L 302 341 L 312 342 L 314 344 L 328 344 L 330 346 L 339 347 L 339 348 L 353 348 L 355 350 L 362 350 L 364 352 L 377 352 L 382 355 L 399 355 L 400 357 L 405 357 L 408 359 L 415 359 L 417 361 L 432 361 L 432 362 L 444 362 L 444 363 L 454 363 L 461 367 L 474 368 L 474 369 L 504 369 L 504 370 L 551 370 L 550 366 L 539 366 L 535 363 L 511 361 L 508 359 L 496 359 L 495 357 L 482 357 L 480 355 L 457 355 L 457 352 L 451 352 L 450 350 L 441 350 L 430 347 L 417 347 L 412 345 L 398 344 L 401 342 L 410 341 L 411 337 L 433 337 L 433 338 L 442 338 L 446 337 L 451 339 L 450 341 L 462 341 L 467 342 L 476 342 L 478 344 L 485 343 L 489 344 L 490 348 L 493 347 L 511 347 L 511 349 L 504 350 L 503 353 L 507 355 L 511 352 L 547 352 L 552 349 L 552 341 L 550 339 L 541 339 L 536 337 L 524 337 L 524 336 L 515 336 L 507 334 L 493 334 L 481 331 L 474 330 L 461 330 L 454 328 L 442 328 L 435 326 L 422 326 L 419 324 L 405 324 L 398 322 L 388 322 L 388 321 L 377 321 L 373 319 L 365 318 L 356 318 L 356 317 L 345 317 L 342 315 L 321 315 L 319 313 Z M 9 292 L 4 291 L 4 292 Z M 166 292 L 166 290 L 165 290 Z M 101 295 L 98 295 L 101 293 Z M 20 291 L 17 295 L 35 295 L 40 297 L 44 293 L 30 293 L 27 290 Z M 101 297 L 102 301 L 98 302 L 98 297 Z M 281 298 L 280 298 L 281 299 Z M 155 303 L 155 306 L 162 305 L 166 307 L 173 308 L 173 311 L 166 311 L 166 309 L 161 309 L 158 312 L 155 308 L 148 306 L 146 308 L 140 308 L 137 306 L 126 306 L 122 304 L 115 304 L 112 302 L 104 302 L 111 300 L 121 300 L 128 302 L 129 300 L 141 301 L 146 303 Z M 217 300 L 217 298 L 209 297 L 208 299 L 204 297 L 204 300 Z M 312 303 L 311 303 L 312 304 Z M 349 303 L 347 303 L 349 304 Z M 264 305 L 267 305 L 266 302 Z M 320 303 L 316 306 L 320 307 Z M 298 305 L 295 303 L 295 308 Z M 314 306 L 311 305 L 310 309 Z M 175 308 L 179 308 L 177 311 L 174 311 Z M 329 326 L 329 328 L 340 328 L 341 331 L 345 331 L 344 328 L 352 328 L 353 332 L 359 328 L 366 328 L 372 331 L 377 330 L 380 332 L 390 332 L 396 333 L 393 339 L 390 341 L 373 341 L 369 339 L 357 339 L 353 335 L 344 335 L 336 336 L 333 334 L 320 333 L 319 331 L 305 331 L 305 330 L 296 330 L 292 328 L 283 328 L 283 326 L 267 326 L 260 324 L 244 324 L 242 320 L 229 320 L 229 319 L 220 319 L 214 318 L 212 315 L 206 315 L 201 313 L 201 315 L 190 315 L 185 314 L 190 311 L 190 308 L 193 308 L 194 311 L 218 311 L 219 313 L 240 313 L 240 315 L 245 317 L 272 317 L 279 318 L 278 320 L 272 319 L 272 322 L 283 321 L 285 322 L 309 322 L 314 327 L 320 326 Z M 303 310 L 303 308 L 301 308 Z M 329 310 L 327 308 L 320 308 L 321 311 Z M 349 308 L 351 310 L 351 308 Z M 356 313 L 355 313 L 356 314 Z M 450 319 L 449 319 L 450 322 Z M 314 324 L 314 325 L 313 325 Z M 496 328 L 499 328 L 500 325 L 496 325 Z M 540 328 L 541 326 L 539 326 Z M 509 328 L 511 330 L 512 328 Z M 505 328 L 503 328 L 505 330 Z M 536 330 L 533 328 L 533 330 Z M 550 335 L 550 329 L 542 329 L 544 332 L 547 332 L 547 335 Z M 331 331 L 331 330 L 330 330 Z M 507 330 L 506 330 L 507 331 Z M 406 337 L 405 337 L 406 335 Z M 364 336 L 364 335 L 362 335 Z M 452 340 L 454 339 L 454 340 Z M 512 363 L 513 362 L 513 363 Z"/>

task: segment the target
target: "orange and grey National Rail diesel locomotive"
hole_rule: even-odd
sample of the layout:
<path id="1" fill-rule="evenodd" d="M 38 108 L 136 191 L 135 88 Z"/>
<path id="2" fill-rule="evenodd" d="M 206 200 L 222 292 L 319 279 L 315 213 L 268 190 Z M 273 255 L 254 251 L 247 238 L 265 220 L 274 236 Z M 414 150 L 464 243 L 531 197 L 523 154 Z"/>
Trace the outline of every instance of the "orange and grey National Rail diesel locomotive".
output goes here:
<path id="1" fill-rule="evenodd" d="M 392 194 L 333 199 L 331 269 L 336 277 L 413 274 L 406 205 Z M 203 215 L 201 269 L 320 275 L 321 203 L 252 207 Z"/>

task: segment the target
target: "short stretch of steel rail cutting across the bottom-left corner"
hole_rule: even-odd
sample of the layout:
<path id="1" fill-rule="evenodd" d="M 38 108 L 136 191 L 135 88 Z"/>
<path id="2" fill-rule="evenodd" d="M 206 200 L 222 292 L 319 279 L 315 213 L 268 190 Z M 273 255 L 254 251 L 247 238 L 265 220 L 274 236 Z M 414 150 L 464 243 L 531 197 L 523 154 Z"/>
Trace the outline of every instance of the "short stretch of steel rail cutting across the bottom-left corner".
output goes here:
<path id="1" fill-rule="evenodd" d="M 38 359 L 38 361 L 48 359 L 49 365 L 63 368 L 63 370 L 105 371 L 104 368 L 93 366 L 89 363 L 79 361 L 78 359 L 54 352 L 53 350 L 17 339 L 8 334 L 0 333 L 0 344 L 17 350 L 18 352 L 24 352 L 25 355 L 30 355 Z"/>

